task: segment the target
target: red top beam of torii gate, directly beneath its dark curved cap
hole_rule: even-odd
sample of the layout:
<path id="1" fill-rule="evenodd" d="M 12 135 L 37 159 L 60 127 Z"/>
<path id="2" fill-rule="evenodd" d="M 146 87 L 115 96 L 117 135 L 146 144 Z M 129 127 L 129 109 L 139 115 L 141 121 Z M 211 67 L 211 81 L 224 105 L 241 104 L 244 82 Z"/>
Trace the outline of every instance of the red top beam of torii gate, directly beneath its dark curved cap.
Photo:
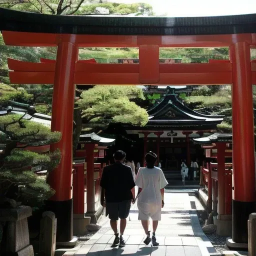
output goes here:
<path id="1" fill-rule="evenodd" d="M 256 45 L 256 35 L 87 35 L 54 34 L 36 32 L 2 31 L 6 45 L 56 46 L 61 41 L 72 42 L 79 47 L 138 47 L 157 44 L 159 47 L 228 47 L 238 41 Z"/>

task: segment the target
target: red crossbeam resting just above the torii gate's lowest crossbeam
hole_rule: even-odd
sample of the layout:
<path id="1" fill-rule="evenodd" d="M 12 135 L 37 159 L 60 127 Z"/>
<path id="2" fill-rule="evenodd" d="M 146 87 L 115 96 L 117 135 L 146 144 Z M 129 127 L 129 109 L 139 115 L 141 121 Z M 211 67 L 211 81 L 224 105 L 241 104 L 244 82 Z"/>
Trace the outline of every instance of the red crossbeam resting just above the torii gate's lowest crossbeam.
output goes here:
<path id="1" fill-rule="evenodd" d="M 150 56 L 150 53 L 148 53 Z M 156 64 L 153 65 L 151 71 L 155 70 L 157 66 L 159 66 L 160 73 L 214 73 L 214 72 L 231 72 L 231 63 L 229 61 L 226 62 L 210 62 L 210 63 L 158 63 L 157 59 L 154 62 Z M 16 60 L 13 58 L 8 58 L 8 68 L 14 71 L 51 71 L 55 70 L 55 60 L 54 59 L 40 59 L 41 62 L 27 62 Z M 149 66 L 150 59 L 145 59 L 144 63 L 125 63 L 125 64 L 117 64 L 117 63 L 96 63 L 95 59 L 85 59 L 78 60 L 75 64 L 76 72 L 84 72 L 87 73 L 143 73 L 144 67 L 147 72 L 146 74 L 150 74 Z M 142 69 L 141 69 L 142 68 Z M 252 70 L 256 70 L 256 63 L 253 63 Z M 140 74 L 141 75 L 141 74 Z"/>

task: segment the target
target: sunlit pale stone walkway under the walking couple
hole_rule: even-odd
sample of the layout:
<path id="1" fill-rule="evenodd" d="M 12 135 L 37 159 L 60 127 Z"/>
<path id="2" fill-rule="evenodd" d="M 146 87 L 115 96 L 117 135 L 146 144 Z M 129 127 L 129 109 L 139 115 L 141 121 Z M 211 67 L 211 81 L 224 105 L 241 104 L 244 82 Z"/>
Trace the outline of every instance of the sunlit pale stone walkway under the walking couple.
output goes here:
<path id="1" fill-rule="evenodd" d="M 166 191 L 162 220 L 156 230 L 159 246 L 145 245 L 144 231 L 137 220 L 137 207 L 133 205 L 124 232 L 126 245 L 113 247 L 113 231 L 107 222 L 76 251 L 79 256 L 206 256 L 215 252 L 201 230 L 195 202 L 188 191 Z M 152 230 L 152 229 L 151 229 Z"/>

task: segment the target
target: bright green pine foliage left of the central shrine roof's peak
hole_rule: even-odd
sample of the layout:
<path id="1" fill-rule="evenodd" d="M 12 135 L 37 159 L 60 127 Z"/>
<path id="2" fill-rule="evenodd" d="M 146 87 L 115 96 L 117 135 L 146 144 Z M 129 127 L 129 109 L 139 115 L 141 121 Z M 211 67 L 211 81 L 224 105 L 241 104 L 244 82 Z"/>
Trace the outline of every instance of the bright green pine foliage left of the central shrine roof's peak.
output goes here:
<path id="1" fill-rule="evenodd" d="M 110 122 L 143 126 L 148 115 L 145 109 L 131 101 L 137 98 L 144 99 L 144 96 L 135 86 L 96 85 L 81 93 L 77 105 L 85 122 L 92 123 L 94 128 L 104 128 Z"/>

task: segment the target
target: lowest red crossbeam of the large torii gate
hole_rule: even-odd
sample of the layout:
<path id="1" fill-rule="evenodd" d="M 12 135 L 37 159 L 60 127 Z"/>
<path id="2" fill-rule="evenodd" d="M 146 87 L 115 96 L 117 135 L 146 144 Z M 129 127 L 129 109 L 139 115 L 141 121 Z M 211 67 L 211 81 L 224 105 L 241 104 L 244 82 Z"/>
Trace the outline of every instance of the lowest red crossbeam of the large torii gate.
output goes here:
<path id="1" fill-rule="evenodd" d="M 54 72 L 10 71 L 11 83 L 52 84 Z M 252 77 L 256 83 L 256 74 Z M 231 84 L 231 73 L 160 73 L 160 79 L 155 84 L 194 85 L 194 84 Z M 75 72 L 76 84 L 141 84 L 138 73 L 87 73 Z M 143 84 L 148 84 L 146 80 Z"/>

